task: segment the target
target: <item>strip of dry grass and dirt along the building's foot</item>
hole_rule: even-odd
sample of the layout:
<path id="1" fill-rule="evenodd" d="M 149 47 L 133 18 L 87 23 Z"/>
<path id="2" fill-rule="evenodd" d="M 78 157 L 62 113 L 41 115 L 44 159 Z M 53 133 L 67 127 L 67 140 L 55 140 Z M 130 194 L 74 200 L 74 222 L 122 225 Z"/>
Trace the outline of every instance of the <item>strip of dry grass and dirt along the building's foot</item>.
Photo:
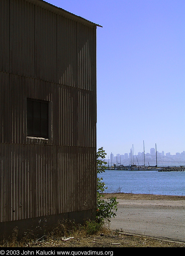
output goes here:
<path id="1" fill-rule="evenodd" d="M 59 225 L 52 233 L 41 238 L 22 239 L 17 241 L 16 232 L 11 240 L 4 240 L 0 247 L 185 247 L 185 243 L 173 242 L 145 236 L 134 236 L 120 231 L 111 231 L 102 227 L 97 233 L 88 235 L 83 226 L 69 229 Z"/>

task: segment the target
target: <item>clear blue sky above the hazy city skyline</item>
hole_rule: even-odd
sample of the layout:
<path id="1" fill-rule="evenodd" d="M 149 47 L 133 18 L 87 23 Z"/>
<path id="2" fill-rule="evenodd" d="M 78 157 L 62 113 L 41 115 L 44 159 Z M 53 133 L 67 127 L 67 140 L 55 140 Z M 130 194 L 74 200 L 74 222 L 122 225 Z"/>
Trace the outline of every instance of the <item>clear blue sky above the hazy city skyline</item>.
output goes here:
<path id="1" fill-rule="evenodd" d="M 185 0 L 48 0 L 97 27 L 97 148 L 185 150 Z"/>

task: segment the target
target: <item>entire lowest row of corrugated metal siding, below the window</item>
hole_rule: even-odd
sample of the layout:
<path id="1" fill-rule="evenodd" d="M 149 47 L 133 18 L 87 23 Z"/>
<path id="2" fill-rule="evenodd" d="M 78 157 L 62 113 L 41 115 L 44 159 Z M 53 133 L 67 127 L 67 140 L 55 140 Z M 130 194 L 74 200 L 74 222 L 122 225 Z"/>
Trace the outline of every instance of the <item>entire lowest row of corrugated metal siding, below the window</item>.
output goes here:
<path id="1" fill-rule="evenodd" d="M 0 222 L 95 208 L 93 148 L 1 143 L 0 152 Z"/>

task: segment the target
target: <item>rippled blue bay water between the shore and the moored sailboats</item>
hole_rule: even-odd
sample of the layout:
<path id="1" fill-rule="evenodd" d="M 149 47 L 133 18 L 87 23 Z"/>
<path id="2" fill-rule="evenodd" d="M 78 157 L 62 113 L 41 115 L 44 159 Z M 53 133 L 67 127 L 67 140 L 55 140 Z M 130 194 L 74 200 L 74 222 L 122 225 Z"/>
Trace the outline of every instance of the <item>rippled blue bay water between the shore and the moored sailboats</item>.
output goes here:
<path id="1" fill-rule="evenodd" d="M 185 172 L 118 171 L 98 173 L 105 193 L 132 193 L 185 196 Z"/>

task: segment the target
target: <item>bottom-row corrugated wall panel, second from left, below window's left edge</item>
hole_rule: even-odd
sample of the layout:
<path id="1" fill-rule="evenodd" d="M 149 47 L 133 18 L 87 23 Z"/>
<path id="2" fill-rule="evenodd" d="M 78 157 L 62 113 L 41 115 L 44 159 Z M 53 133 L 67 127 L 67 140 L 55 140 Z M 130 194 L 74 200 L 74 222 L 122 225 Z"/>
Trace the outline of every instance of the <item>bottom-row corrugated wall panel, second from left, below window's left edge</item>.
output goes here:
<path id="1" fill-rule="evenodd" d="M 33 147 L 27 145 L 9 145 L 9 169 L 8 173 L 8 200 L 6 207 L 8 215 L 6 221 L 31 218 L 32 214 L 32 182 L 33 172 L 31 151 Z M 6 157 L 7 158 L 7 157 Z"/>

